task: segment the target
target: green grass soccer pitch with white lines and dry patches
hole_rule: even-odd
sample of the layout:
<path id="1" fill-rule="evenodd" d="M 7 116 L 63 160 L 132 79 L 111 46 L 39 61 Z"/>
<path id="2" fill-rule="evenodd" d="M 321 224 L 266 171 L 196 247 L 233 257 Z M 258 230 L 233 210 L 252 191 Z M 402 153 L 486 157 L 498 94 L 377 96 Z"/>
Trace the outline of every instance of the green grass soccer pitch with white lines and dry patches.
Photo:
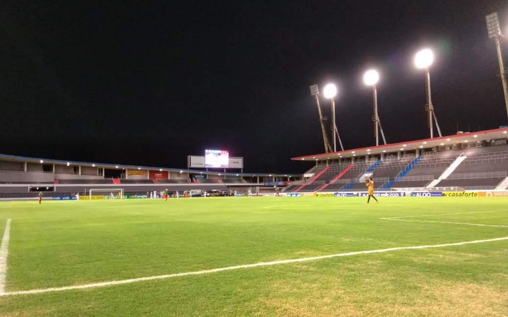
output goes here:
<path id="1" fill-rule="evenodd" d="M 0 316 L 508 315 L 505 198 L 378 199 L 0 202 Z"/>

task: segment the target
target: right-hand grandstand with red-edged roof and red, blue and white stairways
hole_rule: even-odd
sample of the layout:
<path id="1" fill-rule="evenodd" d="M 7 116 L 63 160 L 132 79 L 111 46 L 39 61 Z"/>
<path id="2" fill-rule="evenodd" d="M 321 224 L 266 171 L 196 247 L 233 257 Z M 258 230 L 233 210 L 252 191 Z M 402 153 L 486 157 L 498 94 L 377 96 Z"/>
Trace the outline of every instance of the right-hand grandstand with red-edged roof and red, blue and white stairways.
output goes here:
<path id="1" fill-rule="evenodd" d="M 315 161 L 284 192 L 508 189 L 508 128 L 293 157 Z"/>

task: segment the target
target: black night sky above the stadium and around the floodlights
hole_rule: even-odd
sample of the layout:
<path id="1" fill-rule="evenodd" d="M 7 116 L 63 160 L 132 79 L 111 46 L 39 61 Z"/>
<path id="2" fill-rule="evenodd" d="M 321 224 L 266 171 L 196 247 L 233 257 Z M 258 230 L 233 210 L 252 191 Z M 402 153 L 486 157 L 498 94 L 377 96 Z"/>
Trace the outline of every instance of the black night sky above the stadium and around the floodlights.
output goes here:
<path id="1" fill-rule="evenodd" d="M 324 152 L 314 83 L 338 85 L 346 149 L 375 145 L 371 67 L 387 142 L 430 136 L 425 47 L 443 135 L 498 128 L 495 11 L 508 35 L 500 0 L 3 1 L 0 153 L 186 168 L 220 148 L 246 172 L 303 172 L 291 157 Z"/>

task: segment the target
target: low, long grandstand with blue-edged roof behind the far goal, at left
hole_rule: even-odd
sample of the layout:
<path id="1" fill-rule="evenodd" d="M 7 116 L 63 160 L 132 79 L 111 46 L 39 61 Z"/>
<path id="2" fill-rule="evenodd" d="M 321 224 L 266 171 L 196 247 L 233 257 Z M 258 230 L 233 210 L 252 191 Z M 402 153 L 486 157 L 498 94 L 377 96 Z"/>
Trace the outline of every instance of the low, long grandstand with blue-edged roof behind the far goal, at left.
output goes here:
<path id="1" fill-rule="evenodd" d="M 168 189 L 177 192 L 199 189 L 220 190 L 237 195 L 274 193 L 301 174 L 229 173 L 210 170 L 174 169 L 133 165 L 73 162 L 0 154 L 0 200 L 34 199 L 44 192 L 45 199 L 83 197 L 90 189 L 122 189 L 124 196 L 148 197 Z M 109 195 L 106 193 L 104 195 Z"/>

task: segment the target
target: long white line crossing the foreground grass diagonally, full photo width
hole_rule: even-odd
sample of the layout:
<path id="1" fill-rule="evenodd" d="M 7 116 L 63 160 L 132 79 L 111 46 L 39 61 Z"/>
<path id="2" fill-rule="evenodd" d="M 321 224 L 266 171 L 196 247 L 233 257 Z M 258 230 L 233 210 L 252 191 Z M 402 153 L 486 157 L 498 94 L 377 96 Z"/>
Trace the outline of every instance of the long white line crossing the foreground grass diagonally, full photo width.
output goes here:
<path id="1" fill-rule="evenodd" d="M 381 252 L 396 251 L 396 250 L 423 249 L 423 248 L 433 248 L 433 247 L 456 246 L 456 245 L 464 245 L 464 244 L 471 244 L 471 243 L 483 243 L 483 242 L 492 242 L 492 241 L 501 241 L 501 240 L 508 240 L 508 237 L 486 239 L 486 240 L 464 241 L 464 242 L 456 242 L 456 243 L 419 245 L 419 246 L 401 246 L 401 247 L 393 247 L 393 248 L 387 248 L 387 249 L 377 249 L 377 250 L 367 250 L 367 251 L 355 251 L 355 252 L 337 253 L 337 254 L 328 255 L 328 256 L 319 256 L 319 257 L 311 257 L 311 258 L 300 258 L 300 259 L 291 259 L 291 260 L 281 260 L 281 261 L 272 261 L 272 262 L 260 262 L 260 263 L 254 263 L 254 264 L 228 266 L 228 267 L 217 268 L 217 269 L 210 269 L 210 270 L 203 270 L 203 271 L 184 272 L 184 273 L 176 273 L 176 274 L 157 275 L 157 276 L 147 276 L 147 277 L 140 277 L 140 278 L 132 278 L 132 279 L 117 280 L 117 281 L 109 281 L 109 282 L 101 282 L 101 283 L 76 285 L 76 286 L 67 286 L 67 287 L 59 287 L 59 288 L 36 289 L 36 290 L 28 290 L 28 291 L 3 292 L 3 293 L 0 293 L 0 296 L 26 295 L 26 294 L 37 294 L 37 293 L 47 293 L 47 292 L 56 292 L 56 291 L 89 289 L 89 288 L 94 288 L 94 287 L 103 287 L 103 286 L 111 286 L 111 285 L 119 285 L 119 284 L 128 284 L 128 283 L 134 283 L 134 282 L 140 282 L 140 281 L 147 281 L 147 280 L 154 280 L 154 279 L 164 279 L 164 278 L 178 277 L 178 276 L 185 276 L 185 275 L 207 274 L 207 273 L 214 273 L 214 272 L 227 271 L 227 270 L 236 270 L 236 269 L 251 268 L 251 267 L 257 267 L 257 266 L 269 266 L 269 265 L 275 265 L 275 264 L 285 264 L 285 263 L 313 261 L 313 260 L 321 260 L 321 259 L 336 258 L 336 257 L 355 256 L 355 255 L 368 254 L 368 253 L 381 253 Z"/>

